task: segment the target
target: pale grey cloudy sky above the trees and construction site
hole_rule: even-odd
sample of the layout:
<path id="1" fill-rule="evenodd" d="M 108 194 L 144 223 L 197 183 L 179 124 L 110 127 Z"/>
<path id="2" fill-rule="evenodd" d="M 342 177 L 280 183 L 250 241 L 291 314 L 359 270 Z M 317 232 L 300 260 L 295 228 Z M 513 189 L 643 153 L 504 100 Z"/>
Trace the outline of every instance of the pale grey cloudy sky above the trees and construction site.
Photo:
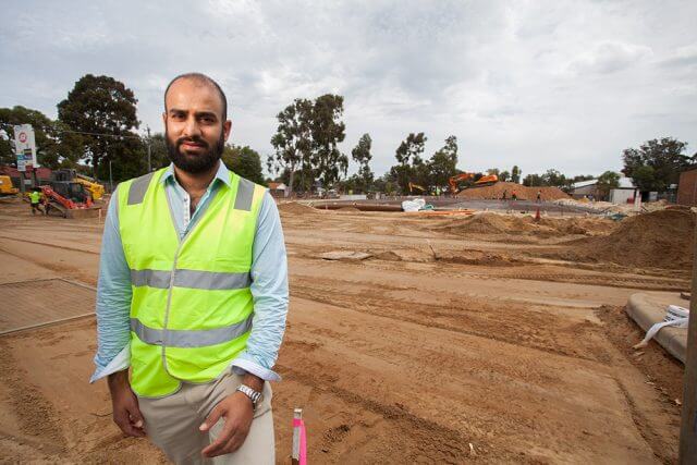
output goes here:
<path id="1" fill-rule="evenodd" d="M 228 95 L 232 142 L 262 155 L 294 98 L 343 95 L 342 149 L 369 133 L 377 174 L 421 131 L 427 157 L 456 135 L 467 171 L 598 174 L 621 168 L 622 149 L 663 136 L 697 150 L 694 0 L 23 0 L 2 10 L 0 107 L 50 118 L 81 76 L 106 74 L 135 91 L 142 127 L 161 131 L 167 83 L 200 71 Z"/>

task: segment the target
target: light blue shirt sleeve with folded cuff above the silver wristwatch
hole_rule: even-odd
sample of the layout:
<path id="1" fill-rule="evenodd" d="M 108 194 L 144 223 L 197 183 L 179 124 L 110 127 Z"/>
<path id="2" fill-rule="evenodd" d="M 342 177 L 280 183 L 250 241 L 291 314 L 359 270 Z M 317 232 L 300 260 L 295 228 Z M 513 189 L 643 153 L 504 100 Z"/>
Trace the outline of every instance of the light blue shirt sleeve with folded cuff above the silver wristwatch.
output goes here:
<path id="1" fill-rule="evenodd" d="M 268 192 L 260 207 L 252 257 L 252 333 L 245 351 L 232 362 L 232 369 L 239 374 L 250 372 L 267 381 L 279 381 L 281 378 L 272 368 L 285 331 L 288 258 L 281 218 Z"/>

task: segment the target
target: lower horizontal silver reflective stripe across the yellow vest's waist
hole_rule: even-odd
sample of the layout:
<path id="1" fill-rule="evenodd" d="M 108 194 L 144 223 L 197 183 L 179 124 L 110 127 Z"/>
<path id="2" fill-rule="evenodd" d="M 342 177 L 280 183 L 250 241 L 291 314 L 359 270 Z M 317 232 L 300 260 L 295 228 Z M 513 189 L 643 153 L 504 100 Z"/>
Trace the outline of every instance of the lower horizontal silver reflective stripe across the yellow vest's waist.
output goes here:
<path id="1" fill-rule="evenodd" d="M 146 327 L 137 318 L 131 318 L 131 331 L 135 332 L 140 341 L 150 345 L 206 347 L 233 341 L 249 331 L 253 315 L 234 325 L 206 330 L 154 329 Z"/>

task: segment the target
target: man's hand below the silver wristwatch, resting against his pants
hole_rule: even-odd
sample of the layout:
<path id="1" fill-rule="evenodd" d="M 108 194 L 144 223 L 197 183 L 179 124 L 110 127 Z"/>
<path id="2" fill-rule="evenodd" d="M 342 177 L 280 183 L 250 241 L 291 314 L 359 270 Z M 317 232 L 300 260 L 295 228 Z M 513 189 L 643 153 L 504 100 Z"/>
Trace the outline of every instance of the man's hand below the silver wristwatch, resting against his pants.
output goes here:
<path id="1" fill-rule="evenodd" d="M 216 405 L 199 429 L 210 430 L 220 417 L 225 419 L 225 425 L 216 441 L 201 451 L 205 457 L 229 454 L 240 449 L 247 438 L 254 418 L 252 400 L 242 392 L 230 394 Z"/>

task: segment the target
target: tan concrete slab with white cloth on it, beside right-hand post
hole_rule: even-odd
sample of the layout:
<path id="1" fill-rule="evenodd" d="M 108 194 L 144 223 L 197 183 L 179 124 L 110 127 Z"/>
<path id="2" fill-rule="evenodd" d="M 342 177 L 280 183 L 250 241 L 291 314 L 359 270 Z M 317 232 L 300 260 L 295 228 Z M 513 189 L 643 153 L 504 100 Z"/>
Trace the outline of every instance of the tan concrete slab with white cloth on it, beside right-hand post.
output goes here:
<path id="1" fill-rule="evenodd" d="M 669 305 L 688 308 L 689 302 L 681 298 L 678 293 L 674 296 L 637 293 L 629 296 L 625 310 L 643 330 L 648 331 L 653 325 L 663 321 L 665 307 Z M 653 339 L 671 355 L 685 363 L 687 328 L 662 328 Z"/>

